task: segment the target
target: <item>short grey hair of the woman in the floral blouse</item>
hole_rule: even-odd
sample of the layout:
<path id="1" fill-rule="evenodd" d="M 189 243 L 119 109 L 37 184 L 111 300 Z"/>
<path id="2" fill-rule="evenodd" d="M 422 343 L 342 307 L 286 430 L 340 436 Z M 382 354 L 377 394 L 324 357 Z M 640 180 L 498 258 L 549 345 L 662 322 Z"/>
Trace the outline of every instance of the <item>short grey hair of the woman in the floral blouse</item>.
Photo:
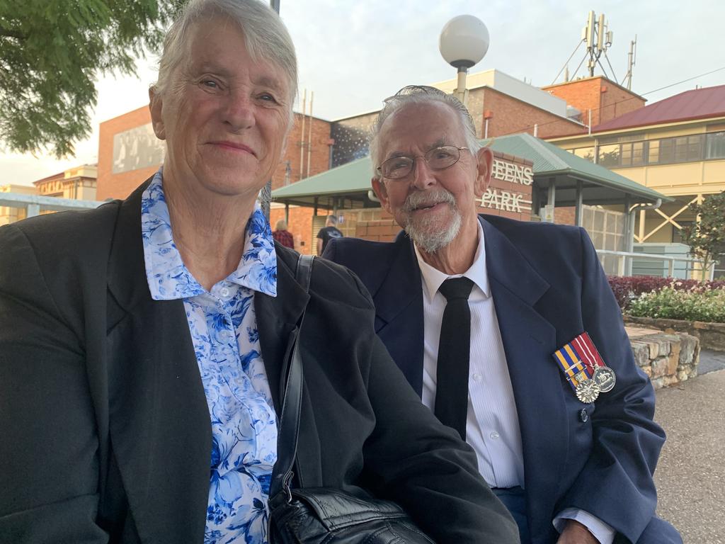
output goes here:
<path id="1" fill-rule="evenodd" d="M 265 59 L 283 70 L 289 83 L 289 115 L 297 96 L 297 57 L 292 38 L 279 15 L 259 0 L 191 0 L 169 28 L 159 60 L 159 79 L 152 88 L 163 95 L 174 82 L 176 68 L 187 57 L 189 34 L 199 20 L 228 17 L 244 32 L 252 59 Z"/>

